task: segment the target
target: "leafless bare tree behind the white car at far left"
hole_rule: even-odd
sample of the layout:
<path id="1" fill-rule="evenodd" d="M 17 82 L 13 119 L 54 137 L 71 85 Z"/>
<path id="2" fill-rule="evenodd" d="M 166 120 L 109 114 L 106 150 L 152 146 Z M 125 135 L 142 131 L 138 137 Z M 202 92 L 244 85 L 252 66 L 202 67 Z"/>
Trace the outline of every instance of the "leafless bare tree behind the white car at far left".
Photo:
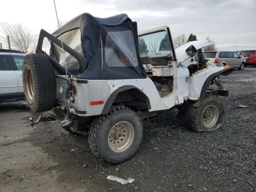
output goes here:
<path id="1" fill-rule="evenodd" d="M 32 53 L 36 50 L 36 43 L 30 35 L 30 30 L 21 24 L 6 25 L 2 28 L 2 33 L 9 36 L 11 47 L 15 50 Z"/>

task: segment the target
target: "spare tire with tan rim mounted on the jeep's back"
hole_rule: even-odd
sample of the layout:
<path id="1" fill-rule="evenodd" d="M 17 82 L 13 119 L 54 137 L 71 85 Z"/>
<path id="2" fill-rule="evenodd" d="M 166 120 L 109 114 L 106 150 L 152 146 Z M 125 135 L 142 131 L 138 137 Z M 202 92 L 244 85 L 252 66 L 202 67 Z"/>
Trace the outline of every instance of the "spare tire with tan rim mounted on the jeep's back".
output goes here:
<path id="1" fill-rule="evenodd" d="M 56 99 L 54 68 L 47 55 L 26 55 L 22 66 L 24 94 L 32 112 L 51 110 Z"/>

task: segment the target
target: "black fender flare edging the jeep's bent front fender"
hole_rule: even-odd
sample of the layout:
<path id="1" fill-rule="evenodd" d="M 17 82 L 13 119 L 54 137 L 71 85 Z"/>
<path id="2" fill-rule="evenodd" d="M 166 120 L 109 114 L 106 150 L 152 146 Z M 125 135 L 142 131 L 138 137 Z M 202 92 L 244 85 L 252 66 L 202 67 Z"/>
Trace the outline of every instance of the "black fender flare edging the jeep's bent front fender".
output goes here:
<path id="1" fill-rule="evenodd" d="M 205 96 L 206 96 L 206 90 L 207 90 L 207 87 L 210 85 L 212 79 L 220 76 L 221 74 L 224 75 L 224 76 L 227 76 L 228 74 L 230 74 L 234 69 L 232 67 L 228 67 L 224 70 L 221 70 L 221 71 L 218 71 L 214 74 L 211 74 L 204 82 L 203 86 L 202 86 L 202 89 L 201 89 L 201 93 L 200 93 L 200 98 L 199 100 L 194 103 L 193 106 L 195 107 L 199 107 L 202 103 L 202 101 L 204 100 Z"/>

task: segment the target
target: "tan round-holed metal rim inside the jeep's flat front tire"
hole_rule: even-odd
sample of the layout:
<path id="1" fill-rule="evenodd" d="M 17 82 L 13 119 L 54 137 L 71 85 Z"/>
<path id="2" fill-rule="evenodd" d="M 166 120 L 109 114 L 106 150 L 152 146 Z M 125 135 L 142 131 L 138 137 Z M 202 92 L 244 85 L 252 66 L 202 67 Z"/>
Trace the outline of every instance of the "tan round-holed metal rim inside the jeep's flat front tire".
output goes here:
<path id="1" fill-rule="evenodd" d="M 211 128 L 217 123 L 218 118 L 218 108 L 215 105 L 209 105 L 204 109 L 204 112 L 202 114 L 202 124 L 206 128 Z"/>

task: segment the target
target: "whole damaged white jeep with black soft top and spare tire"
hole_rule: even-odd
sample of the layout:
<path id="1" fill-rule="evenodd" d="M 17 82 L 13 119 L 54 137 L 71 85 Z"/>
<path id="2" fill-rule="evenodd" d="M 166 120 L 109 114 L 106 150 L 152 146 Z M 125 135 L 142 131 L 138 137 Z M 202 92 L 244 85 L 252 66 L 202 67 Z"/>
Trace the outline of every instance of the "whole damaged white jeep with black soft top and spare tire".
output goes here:
<path id="1" fill-rule="evenodd" d="M 50 55 L 42 51 L 44 38 Z M 138 34 L 126 14 L 84 13 L 53 34 L 41 30 L 36 54 L 26 56 L 22 70 L 30 109 L 44 112 L 30 124 L 59 120 L 69 132 L 88 132 L 92 153 L 114 164 L 138 149 L 142 121 L 166 110 L 185 112 L 196 132 L 218 129 L 224 108 L 217 95 L 228 90 L 217 79 L 233 69 L 207 63 L 201 48 L 210 44 L 194 41 L 174 50 L 167 26 Z"/>

